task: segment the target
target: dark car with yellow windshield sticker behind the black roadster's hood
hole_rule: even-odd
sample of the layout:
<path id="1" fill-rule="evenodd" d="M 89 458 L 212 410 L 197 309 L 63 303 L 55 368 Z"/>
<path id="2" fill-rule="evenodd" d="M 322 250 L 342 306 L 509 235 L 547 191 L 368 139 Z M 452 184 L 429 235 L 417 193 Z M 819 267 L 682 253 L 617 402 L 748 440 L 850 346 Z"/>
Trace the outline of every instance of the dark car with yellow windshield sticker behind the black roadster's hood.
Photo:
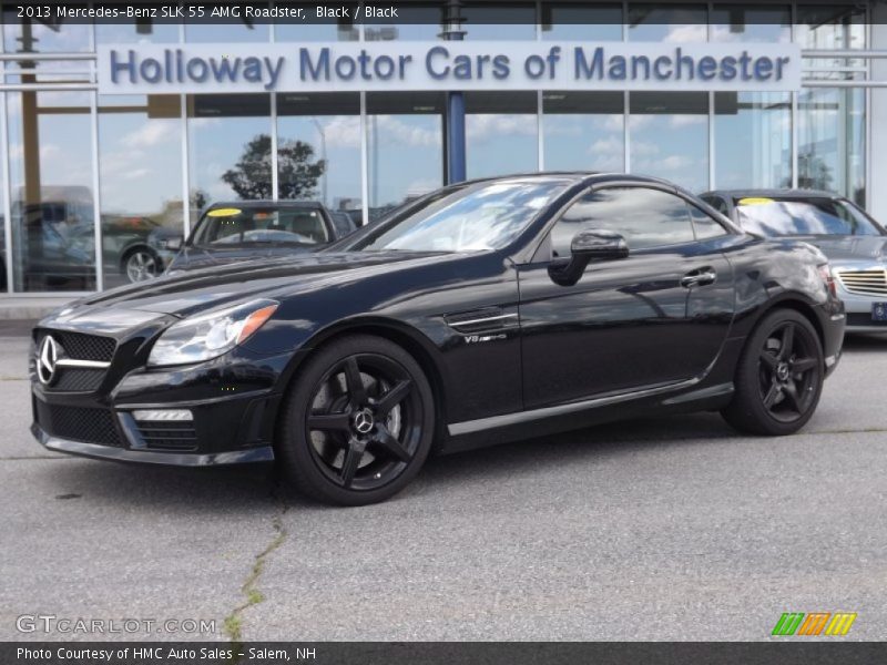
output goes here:
<path id="1" fill-rule="evenodd" d="M 203 212 L 167 273 L 313 252 L 350 231 L 339 229 L 317 202 L 214 203 Z"/>

